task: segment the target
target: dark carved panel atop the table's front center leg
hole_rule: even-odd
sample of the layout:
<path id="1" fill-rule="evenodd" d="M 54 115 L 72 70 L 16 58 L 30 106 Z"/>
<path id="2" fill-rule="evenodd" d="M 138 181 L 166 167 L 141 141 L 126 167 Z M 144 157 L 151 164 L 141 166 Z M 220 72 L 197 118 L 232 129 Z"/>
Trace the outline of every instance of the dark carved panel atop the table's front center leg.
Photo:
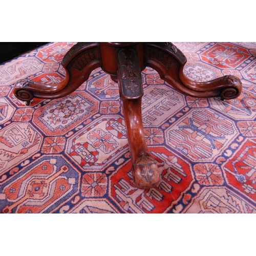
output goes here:
<path id="1" fill-rule="evenodd" d="M 138 98 L 143 94 L 139 60 L 133 49 L 118 53 L 122 94 L 124 97 Z"/>

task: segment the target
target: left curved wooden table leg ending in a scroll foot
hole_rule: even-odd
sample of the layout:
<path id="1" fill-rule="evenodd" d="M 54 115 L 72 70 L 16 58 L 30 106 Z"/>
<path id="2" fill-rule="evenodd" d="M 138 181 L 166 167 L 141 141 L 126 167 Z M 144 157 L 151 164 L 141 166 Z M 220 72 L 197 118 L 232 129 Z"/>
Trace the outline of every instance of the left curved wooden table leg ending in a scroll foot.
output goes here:
<path id="1" fill-rule="evenodd" d="M 54 99 L 72 93 L 94 69 L 101 67 L 99 43 L 80 42 L 74 45 L 63 57 L 61 65 L 66 71 L 63 81 L 45 84 L 29 79 L 19 80 L 14 84 L 14 95 L 28 105 L 34 97 Z"/>

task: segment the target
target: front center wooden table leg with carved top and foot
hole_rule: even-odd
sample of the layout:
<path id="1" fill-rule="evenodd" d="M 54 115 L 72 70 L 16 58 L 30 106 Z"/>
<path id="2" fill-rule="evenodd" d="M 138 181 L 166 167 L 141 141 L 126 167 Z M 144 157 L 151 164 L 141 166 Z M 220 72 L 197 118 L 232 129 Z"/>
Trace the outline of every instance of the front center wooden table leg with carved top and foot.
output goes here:
<path id="1" fill-rule="evenodd" d="M 145 141 L 141 115 L 142 79 L 134 49 L 122 49 L 118 53 L 118 83 L 133 162 L 134 183 L 142 189 L 154 187 L 160 176 L 156 160 Z"/>

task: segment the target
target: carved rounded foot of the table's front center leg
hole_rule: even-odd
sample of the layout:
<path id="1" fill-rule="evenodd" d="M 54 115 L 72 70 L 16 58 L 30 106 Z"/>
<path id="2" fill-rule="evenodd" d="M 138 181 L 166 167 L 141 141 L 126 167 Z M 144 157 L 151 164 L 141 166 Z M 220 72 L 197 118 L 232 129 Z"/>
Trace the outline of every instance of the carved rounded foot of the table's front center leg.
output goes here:
<path id="1" fill-rule="evenodd" d="M 133 164 L 135 186 L 141 189 L 157 185 L 160 179 L 157 163 L 151 154 L 142 152 Z"/>

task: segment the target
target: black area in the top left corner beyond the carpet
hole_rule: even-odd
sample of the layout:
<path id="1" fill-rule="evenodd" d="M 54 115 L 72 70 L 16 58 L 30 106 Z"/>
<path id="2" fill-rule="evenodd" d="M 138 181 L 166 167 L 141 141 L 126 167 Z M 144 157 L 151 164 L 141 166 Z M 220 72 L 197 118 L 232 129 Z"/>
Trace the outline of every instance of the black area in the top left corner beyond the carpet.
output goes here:
<path id="1" fill-rule="evenodd" d="M 48 42 L 0 42 L 0 64 Z"/>

